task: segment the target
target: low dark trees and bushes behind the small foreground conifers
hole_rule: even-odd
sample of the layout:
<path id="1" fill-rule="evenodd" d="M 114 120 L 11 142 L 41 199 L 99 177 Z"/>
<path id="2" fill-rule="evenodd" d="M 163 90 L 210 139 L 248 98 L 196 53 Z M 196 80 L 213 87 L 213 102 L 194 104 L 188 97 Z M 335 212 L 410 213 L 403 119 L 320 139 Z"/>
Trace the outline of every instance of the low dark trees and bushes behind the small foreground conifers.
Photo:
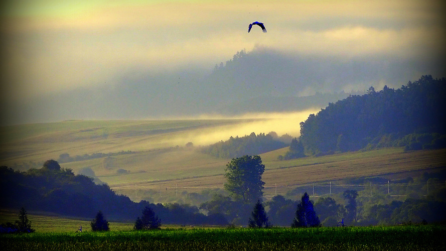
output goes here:
<path id="1" fill-rule="evenodd" d="M 444 222 L 445 177 L 446 172 L 443 170 L 425 173 L 415 179 L 392 181 L 400 185 L 392 188 L 392 192 L 408 194 L 404 199 L 391 197 L 388 187 L 374 188 L 373 196 L 369 196 L 371 191 L 368 186 L 350 191 L 333 187 L 330 197 L 320 197 L 312 201 L 312 204 L 323 226 L 336 226 L 342 218 L 347 225 L 363 226 L 422 221 Z M 106 184 L 94 184 L 91 178 L 74 175 L 71 170 L 60 168 L 56 161 L 48 161 L 41 169 L 31 169 L 27 172 L 0 167 L 0 205 L 4 209 L 19 210 L 25 207 L 34 212 L 86 219 L 91 219 L 98 211 L 102 211 L 104 217 L 109 220 L 131 222 L 141 216 L 145 207 L 150 207 L 162 224 L 247 225 L 254 204 L 262 194 L 263 183 L 259 178 L 261 175 L 253 183 L 258 191 L 254 197 L 247 196 L 246 190 L 240 190 L 240 186 L 236 186 L 236 183 L 231 185 L 228 180 L 227 189 L 231 189 L 226 194 L 214 194 L 198 206 L 179 203 L 154 204 L 144 200 L 136 203 L 127 196 L 117 195 Z M 377 178 L 364 178 L 349 180 L 349 184 L 371 184 L 379 181 L 381 180 Z M 419 188 L 415 186 L 417 184 L 424 185 Z M 251 193 L 253 190 L 255 189 L 250 189 Z M 310 190 L 295 188 L 285 196 L 276 195 L 263 201 L 270 224 L 290 226 L 296 215 L 299 199 L 306 192 Z M 243 200 L 243 195 L 248 200 Z"/>

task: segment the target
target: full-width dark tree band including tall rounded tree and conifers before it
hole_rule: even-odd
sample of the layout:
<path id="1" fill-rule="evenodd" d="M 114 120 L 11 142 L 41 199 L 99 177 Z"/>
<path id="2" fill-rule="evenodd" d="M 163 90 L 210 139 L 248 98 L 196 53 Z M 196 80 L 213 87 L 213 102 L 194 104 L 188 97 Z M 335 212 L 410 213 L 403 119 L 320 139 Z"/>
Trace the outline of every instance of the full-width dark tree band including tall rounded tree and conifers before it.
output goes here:
<path id="1" fill-rule="evenodd" d="M 135 229 L 157 228 L 161 222 L 302 227 L 332 226 L 338 222 L 370 225 L 446 220 L 442 213 L 446 210 L 444 182 L 440 187 L 431 185 L 428 196 L 411 192 L 404 201 L 395 201 L 382 192 L 369 196 L 369 192 L 361 190 L 340 191 L 330 197 L 321 197 L 316 202 L 310 200 L 306 191 L 290 191 L 287 198 L 277 195 L 263 201 L 263 172 L 264 165 L 259 156 L 234 158 L 225 170 L 228 195 L 216 194 L 200 206 L 178 203 L 163 205 L 147 201 L 132 202 L 127 196 L 116 195 L 107 185 L 94 184 L 91 178 L 74 175 L 70 169 L 63 169 L 56 161 L 49 160 L 41 169 L 27 172 L 0 167 L 0 203 L 3 208 L 25 207 L 33 211 L 83 218 L 101 211 L 113 220 L 136 219 Z M 444 177 L 444 172 L 426 173 L 420 179 L 434 184 L 438 183 L 435 181 L 443 181 Z M 414 181 L 417 182 L 414 179 L 400 182 Z M 292 199 L 302 194 L 301 200 Z M 339 203 L 339 200 L 342 202 Z M 141 211 L 142 216 L 137 217 Z"/>

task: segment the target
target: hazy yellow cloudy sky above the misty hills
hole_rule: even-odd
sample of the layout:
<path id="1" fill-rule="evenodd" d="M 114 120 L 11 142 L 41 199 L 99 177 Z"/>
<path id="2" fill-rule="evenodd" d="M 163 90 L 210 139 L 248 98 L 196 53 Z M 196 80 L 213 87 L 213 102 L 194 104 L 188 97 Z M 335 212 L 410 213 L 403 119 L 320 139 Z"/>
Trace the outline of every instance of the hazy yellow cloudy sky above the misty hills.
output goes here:
<path id="1" fill-rule="evenodd" d="M 161 88 L 148 78 L 159 79 L 157 84 L 161 86 L 165 76 L 194 76 L 185 86 L 190 89 L 192 82 L 205 78 L 216 64 L 232 59 L 242 49 L 251 53 L 256 48 L 311 60 L 312 69 L 324 68 L 320 70 L 326 72 L 318 79 L 323 86 L 303 86 L 307 91 L 293 95 L 314 94 L 318 90 L 365 90 L 371 82 L 377 89 L 384 84 L 398 88 L 422 74 L 446 76 L 444 11 L 445 4 L 437 0 L 7 0 L 0 4 L 2 106 L 9 109 L 28 105 L 39 119 L 27 119 L 32 116 L 19 108 L 2 116 L 8 123 L 66 119 L 69 116 L 60 111 L 50 116 L 51 110 L 39 109 L 41 104 L 33 100 L 79 90 L 122 88 L 127 83 L 152 84 L 154 92 Z M 253 27 L 248 34 L 248 24 L 253 21 L 263 22 L 267 33 Z M 281 61 L 277 62 L 276 67 L 281 67 Z M 370 73 L 370 64 L 356 62 L 373 62 L 379 66 L 379 77 Z M 370 79 L 349 79 L 335 86 L 334 82 L 346 79 L 330 77 L 339 75 L 337 65 L 349 65 L 350 71 L 370 75 Z M 132 79 L 139 80 L 130 83 Z M 284 82 L 293 79 L 295 76 L 290 76 Z M 192 98 L 184 97 L 190 95 L 189 91 L 170 93 L 167 88 L 160 95 L 184 100 L 185 107 L 195 107 L 189 104 Z M 22 113 L 27 115 L 13 119 L 12 116 Z M 104 109 L 97 118 L 107 119 L 107 113 L 110 110 Z M 199 113 L 200 109 L 193 112 Z M 86 118 L 95 118 L 94 114 Z M 82 113 L 73 116 L 82 118 Z"/>

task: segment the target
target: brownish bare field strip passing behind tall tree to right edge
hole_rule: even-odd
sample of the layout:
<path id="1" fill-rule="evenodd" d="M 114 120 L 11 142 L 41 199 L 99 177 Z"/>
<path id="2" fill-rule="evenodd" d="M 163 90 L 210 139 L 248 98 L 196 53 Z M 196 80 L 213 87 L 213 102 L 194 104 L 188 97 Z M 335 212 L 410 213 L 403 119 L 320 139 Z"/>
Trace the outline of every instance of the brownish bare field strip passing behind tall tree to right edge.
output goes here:
<path id="1" fill-rule="evenodd" d="M 446 168 L 446 149 L 441 150 L 423 150 L 405 153 L 402 150 L 392 150 L 386 154 L 386 151 L 371 151 L 367 155 L 375 157 L 362 158 L 363 153 L 346 153 L 347 160 L 343 160 L 344 154 L 336 156 L 324 156 L 315 158 L 325 163 L 308 164 L 314 157 L 294 160 L 297 166 L 281 167 L 268 169 L 263 174 L 262 180 L 265 187 L 293 186 L 308 184 L 311 182 L 335 181 L 345 178 L 358 178 L 367 176 L 382 176 L 395 173 L 444 169 Z M 396 152 L 396 153 L 395 153 Z M 267 162 L 266 162 L 267 163 Z M 302 164 L 304 163 L 304 164 Z M 177 180 L 139 182 L 136 186 L 132 184 L 122 184 L 120 186 L 111 186 L 114 190 L 135 190 L 135 189 L 154 189 L 166 190 L 189 188 L 223 188 L 225 178 L 223 174 L 205 177 L 185 178 Z"/>

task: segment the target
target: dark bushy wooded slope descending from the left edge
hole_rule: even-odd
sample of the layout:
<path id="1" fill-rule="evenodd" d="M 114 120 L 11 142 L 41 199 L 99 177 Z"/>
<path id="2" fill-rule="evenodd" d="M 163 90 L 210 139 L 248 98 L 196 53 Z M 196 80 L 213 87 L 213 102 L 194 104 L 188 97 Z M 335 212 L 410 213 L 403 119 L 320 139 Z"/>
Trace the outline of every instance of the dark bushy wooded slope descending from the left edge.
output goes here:
<path id="1" fill-rule="evenodd" d="M 196 206 L 135 203 L 117 195 L 106 184 L 96 185 L 89 177 L 74 175 L 54 160 L 27 172 L 0 167 L 0 205 L 2 209 L 25 207 L 29 211 L 84 218 L 92 218 L 101 210 L 110 219 L 125 221 L 135 220 L 145 206 L 150 206 L 163 223 L 226 223 L 223 217 L 203 215 Z"/>

